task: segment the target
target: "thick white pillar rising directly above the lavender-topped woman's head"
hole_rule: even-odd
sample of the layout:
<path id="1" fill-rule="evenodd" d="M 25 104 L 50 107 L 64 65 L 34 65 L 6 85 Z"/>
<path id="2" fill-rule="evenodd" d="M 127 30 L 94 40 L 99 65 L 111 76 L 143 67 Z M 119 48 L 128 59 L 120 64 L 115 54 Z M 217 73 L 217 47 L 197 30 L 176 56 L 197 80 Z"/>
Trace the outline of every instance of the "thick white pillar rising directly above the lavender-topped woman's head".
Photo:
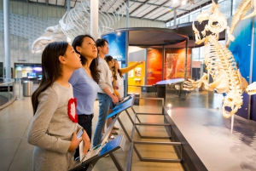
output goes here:
<path id="1" fill-rule="evenodd" d="M 98 39 L 99 1 L 90 0 L 90 36 Z"/>

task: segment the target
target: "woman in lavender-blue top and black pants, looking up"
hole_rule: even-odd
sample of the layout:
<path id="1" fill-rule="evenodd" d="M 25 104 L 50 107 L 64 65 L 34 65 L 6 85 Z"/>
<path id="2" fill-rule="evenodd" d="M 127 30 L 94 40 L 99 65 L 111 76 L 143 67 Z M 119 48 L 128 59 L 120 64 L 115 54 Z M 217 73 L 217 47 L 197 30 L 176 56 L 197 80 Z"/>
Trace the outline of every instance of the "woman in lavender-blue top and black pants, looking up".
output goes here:
<path id="1" fill-rule="evenodd" d="M 99 83 L 100 79 L 100 74 L 97 70 L 96 43 L 89 35 L 80 35 L 74 38 L 72 46 L 80 54 L 82 67 L 73 71 L 69 83 L 73 85 L 73 96 L 78 100 L 79 125 L 85 129 L 91 139 L 94 102 L 98 91 L 97 83 Z M 77 149 L 75 157 L 79 157 L 79 149 Z"/>

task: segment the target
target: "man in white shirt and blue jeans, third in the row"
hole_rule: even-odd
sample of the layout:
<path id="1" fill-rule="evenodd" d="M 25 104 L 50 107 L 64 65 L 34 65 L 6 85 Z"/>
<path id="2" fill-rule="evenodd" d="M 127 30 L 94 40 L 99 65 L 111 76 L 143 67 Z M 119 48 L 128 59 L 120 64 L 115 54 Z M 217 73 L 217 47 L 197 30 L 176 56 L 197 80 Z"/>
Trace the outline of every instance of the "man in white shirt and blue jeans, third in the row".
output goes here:
<path id="1" fill-rule="evenodd" d="M 113 94 L 112 71 L 110 71 L 107 62 L 104 60 L 108 54 L 108 41 L 106 39 L 97 39 L 96 47 L 99 54 L 100 81 L 97 99 L 99 100 L 99 117 L 93 138 L 93 146 L 99 145 L 102 140 L 102 128 L 105 126 L 108 110 L 113 108 L 113 104 L 119 102 L 118 97 Z M 112 135 L 110 134 L 110 137 Z"/>

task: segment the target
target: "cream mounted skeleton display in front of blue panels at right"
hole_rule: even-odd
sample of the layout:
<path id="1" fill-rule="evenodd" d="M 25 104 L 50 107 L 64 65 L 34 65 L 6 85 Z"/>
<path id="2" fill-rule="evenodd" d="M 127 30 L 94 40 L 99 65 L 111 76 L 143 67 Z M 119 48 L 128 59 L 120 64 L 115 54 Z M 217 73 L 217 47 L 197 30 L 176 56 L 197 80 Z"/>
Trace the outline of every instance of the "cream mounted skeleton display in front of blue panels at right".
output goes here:
<path id="1" fill-rule="evenodd" d="M 214 89 L 219 94 L 225 94 L 223 100 L 223 116 L 225 118 L 231 117 L 236 114 L 236 111 L 241 108 L 242 105 L 242 93 L 247 90 L 248 94 L 256 94 L 253 91 L 256 83 L 248 85 L 245 78 L 241 77 L 241 73 L 236 66 L 236 60 L 233 54 L 227 48 L 230 41 L 234 41 L 235 37 L 232 32 L 235 29 L 236 24 L 243 19 L 247 19 L 256 14 L 254 9 L 255 0 L 243 0 L 241 1 L 236 14 L 233 16 L 231 22 L 231 29 L 227 26 L 227 19 L 218 9 L 218 4 L 212 1 L 212 8 L 209 12 L 203 12 L 196 20 L 201 22 L 208 20 L 204 31 L 201 31 L 203 38 L 201 39 L 200 32 L 195 28 L 193 22 L 193 31 L 195 33 L 195 43 L 205 44 L 204 60 L 208 69 L 208 74 L 211 75 L 213 82 L 208 83 L 208 74 L 204 73 L 200 80 L 194 81 L 189 79 L 185 81 L 183 86 L 185 90 L 193 90 L 195 88 L 203 88 L 207 91 L 213 91 Z M 253 13 L 248 14 L 249 9 L 253 8 Z M 228 41 L 226 46 L 218 42 L 218 34 L 221 31 L 226 30 Z M 207 31 L 211 31 L 211 34 L 207 35 Z M 231 111 L 226 111 L 225 107 L 230 107 Z"/>

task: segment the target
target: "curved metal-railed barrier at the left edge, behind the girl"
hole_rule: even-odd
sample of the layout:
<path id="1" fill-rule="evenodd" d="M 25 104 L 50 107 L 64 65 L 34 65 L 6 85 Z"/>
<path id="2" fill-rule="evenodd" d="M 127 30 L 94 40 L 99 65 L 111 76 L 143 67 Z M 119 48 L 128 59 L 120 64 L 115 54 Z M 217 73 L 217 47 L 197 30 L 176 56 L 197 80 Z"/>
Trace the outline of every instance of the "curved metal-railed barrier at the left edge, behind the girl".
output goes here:
<path id="1" fill-rule="evenodd" d="M 11 79 L 11 78 L 4 78 L 4 77 L 0 77 L 0 80 L 3 80 L 3 83 L 0 83 L 0 87 L 1 86 L 8 86 L 8 101 L 0 106 L 0 110 L 2 110 L 3 108 L 7 107 L 8 105 L 12 104 L 15 100 L 16 100 L 16 94 L 15 94 L 15 79 Z M 9 92 L 9 86 L 13 86 L 13 94 L 10 94 Z M 10 99 L 10 95 L 12 95 L 12 98 Z"/>

